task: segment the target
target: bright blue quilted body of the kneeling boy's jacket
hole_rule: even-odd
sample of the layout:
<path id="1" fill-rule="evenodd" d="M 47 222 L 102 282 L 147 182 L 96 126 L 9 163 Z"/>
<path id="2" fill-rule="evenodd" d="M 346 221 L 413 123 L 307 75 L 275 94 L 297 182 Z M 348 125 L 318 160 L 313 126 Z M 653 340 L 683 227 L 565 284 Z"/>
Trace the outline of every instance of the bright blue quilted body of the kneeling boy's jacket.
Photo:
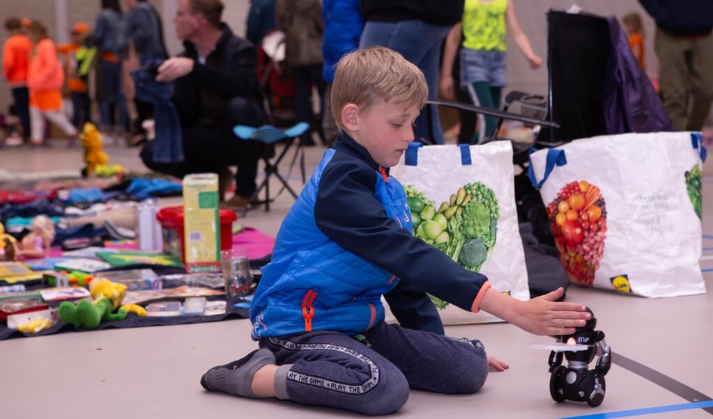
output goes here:
<path id="1" fill-rule="evenodd" d="M 316 330 L 354 335 L 384 320 L 381 295 L 398 279 L 332 242 L 314 221 L 319 182 L 334 152 L 324 153 L 282 222 L 272 262 L 262 269 L 250 307 L 255 340 Z M 404 189 L 398 180 L 384 176 L 376 177 L 376 197 L 389 217 L 411 230 Z"/>

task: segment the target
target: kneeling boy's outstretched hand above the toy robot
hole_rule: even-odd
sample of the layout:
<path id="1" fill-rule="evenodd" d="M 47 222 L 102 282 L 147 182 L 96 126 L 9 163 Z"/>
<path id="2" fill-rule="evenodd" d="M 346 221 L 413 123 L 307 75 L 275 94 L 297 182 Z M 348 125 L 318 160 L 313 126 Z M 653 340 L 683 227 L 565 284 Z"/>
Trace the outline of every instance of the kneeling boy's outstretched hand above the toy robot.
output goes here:
<path id="1" fill-rule="evenodd" d="M 535 335 L 570 335 L 592 315 L 583 304 L 558 302 L 564 292 L 560 287 L 529 301 L 520 301 L 491 288 L 479 308 Z"/>

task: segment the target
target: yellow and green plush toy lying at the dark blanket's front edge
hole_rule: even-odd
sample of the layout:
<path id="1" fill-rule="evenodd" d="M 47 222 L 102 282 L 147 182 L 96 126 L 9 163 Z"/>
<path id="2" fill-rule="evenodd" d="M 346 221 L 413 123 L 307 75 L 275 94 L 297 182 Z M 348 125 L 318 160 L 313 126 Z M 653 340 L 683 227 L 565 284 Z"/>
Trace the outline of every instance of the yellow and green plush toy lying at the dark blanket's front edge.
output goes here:
<path id="1" fill-rule="evenodd" d="M 146 315 L 146 310 L 142 306 L 136 304 L 121 306 L 121 301 L 126 296 L 124 284 L 108 279 L 94 279 L 89 285 L 89 292 L 94 297 L 94 301 L 82 300 L 76 305 L 63 301 L 57 309 L 59 319 L 74 324 L 76 328 L 86 326 L 87 329 L 96 329 L 101 321 L 123 320 L 130 311 L 138 316 Z"/>

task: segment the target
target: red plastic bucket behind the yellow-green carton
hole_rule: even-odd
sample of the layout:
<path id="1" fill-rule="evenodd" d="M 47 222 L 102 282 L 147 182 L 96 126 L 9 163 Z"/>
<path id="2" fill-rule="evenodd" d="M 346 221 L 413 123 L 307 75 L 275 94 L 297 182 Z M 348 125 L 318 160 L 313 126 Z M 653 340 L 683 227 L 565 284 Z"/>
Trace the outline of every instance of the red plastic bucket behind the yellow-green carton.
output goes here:
<path id="1" fill-rule="evenodd" d="M 230 209 L 218 209 L 220 217 L 220 249 L 232 247 L 232 222 L 237 219 Z M 156 219 L 161 224 L 163 232 L 163 252 L 180 259 L 185 264 L 185 243 L 183 237 L 183 205 L 166 207 L 159 210 Z"/>

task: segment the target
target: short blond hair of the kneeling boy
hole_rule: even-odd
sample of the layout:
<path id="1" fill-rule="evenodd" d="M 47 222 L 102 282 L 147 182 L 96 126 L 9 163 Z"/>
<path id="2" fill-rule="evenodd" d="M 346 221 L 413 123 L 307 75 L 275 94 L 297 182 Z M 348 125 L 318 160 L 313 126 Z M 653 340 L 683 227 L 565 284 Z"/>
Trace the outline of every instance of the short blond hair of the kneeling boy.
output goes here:
<path id="1" fill-rule="evenodd" d="M 401 54 L 383 46 L 348 53 L 337 63 L 332 83 L 332 115 L 340 131 L 342 108 L 354 103 L 361 110 L 377 99 L 423 108 L 429 97 L 424 73 Z"/>

